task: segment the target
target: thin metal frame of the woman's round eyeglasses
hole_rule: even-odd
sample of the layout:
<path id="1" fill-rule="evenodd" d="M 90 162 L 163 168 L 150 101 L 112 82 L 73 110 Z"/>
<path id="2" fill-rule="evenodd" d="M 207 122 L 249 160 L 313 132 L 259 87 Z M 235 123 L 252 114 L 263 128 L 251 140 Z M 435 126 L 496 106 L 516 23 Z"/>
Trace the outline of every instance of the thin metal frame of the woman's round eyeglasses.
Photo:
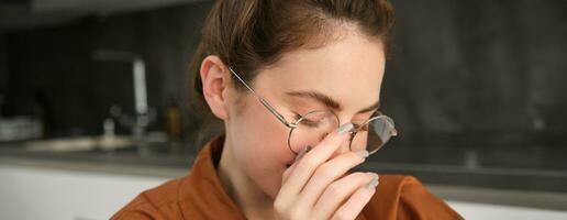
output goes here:
<path id="1" fill-rule="evenodd" d="M 300 114 L 300 118 L 294 121 L 294 122 L 289 122 L 281 113 L 278 112 L 278 110 L 276 110 L 274 107 L 271 107 L 271 105 L 269 105 L 269 102 L 264 99 L 262 96 L 259 96 L 251 86 L 248 86 L 248 84 L 238 75 L 236 74 L 236 72 L 234 72 L 231 67 L 229 67 L 229 70 L 232 73 L 232 75 L 234 75 L 236 77 L 236 79 L 238 79 L 238 81 L 241 81 L 244 87 L 246 87 L 246 89 L 248 89 L 257 99 L 258 101 L 262 103 L 262 106 L 264 106 L 271 114 L 274 114 L 278 121 L 280 121 L 285 127 L 287 127 L 289 129 L 289 134 L 288 134 L 288 148 L 293 152 L 296 155 L 298 154 L 298 152 L 293 151 L 293 148 L 291 147 L 291 133 L 293 132 L 294 129 L 298 128 L 298 124 L 303 121 L 305 119 L 307 116 L 309 114 L 312 114 L 312 113 L 315 113 L 315 112 L 329 112 L 329 113 L 332 113 L 335 118 L 336 118 L 336 121 L 338 122 L 338 125 L 341 125 L 341 120 L 338 119 L 338 117 L 336 116 L 336 113 L 334 113 L 333 111 L 329 111 L 329 110 L 314 110 L 314 111 L 310 111 L 303 116 Z M 349 133 L 349 142 L 348 142 L 348 150 L 352 151 L 352 147 L 351 145 L 353 144 L 353 140 L 355 138 L 355 135 L 358 133 L 359 129 L 360 128 L 364 128 L 364 125 L 370 123 L 370 121 L 373 120 L 377 120 L 377 119 L 380 119 L 380 118 L 385 118 L 386 121 L 388 122 L 387 124 L 389 127 L 391 127 L 391 134 L 390 134 L 390 138 L 391 136 L 397 136 L 398 135 L 398 131 L 396 130 L 394 125 L 393 125 L 393 120 L 391 118 L 389 118 L 388 116 L 386 114 L 381 114 L 379 111 L 376 111 L 374 114 L 378 113 L 379 116 L 376 116 L 376 117 L 370 117 L 370 119 L 366 120 L 363 125 L 358 127 L 358 128 L 353 128 L 353 130 L 348 131 Z M 388 139 L 389 141 L 390 139 Z M 369 154 L 374 154 L 376 153 L 378 150 L 380 150 L 383 145 L 386 145 L 386 143 L 388 142 L 383 142 L 382 145 L 380 147 L 377 147 L 376 150 L 374 150 L 373 152 L 368 152 Z"/>

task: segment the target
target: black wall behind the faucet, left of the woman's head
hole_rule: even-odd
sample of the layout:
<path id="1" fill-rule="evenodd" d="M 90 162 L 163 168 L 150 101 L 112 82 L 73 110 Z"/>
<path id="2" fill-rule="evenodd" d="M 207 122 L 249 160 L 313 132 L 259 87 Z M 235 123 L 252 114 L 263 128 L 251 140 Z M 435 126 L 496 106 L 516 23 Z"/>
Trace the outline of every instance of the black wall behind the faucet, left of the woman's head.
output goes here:
<path id="1" fill-rule="evenodd" d="M 134 112 L 131 64 L 92 57 L 96 50 L 118 50 L 144 57 L 148 102 L 157 108 L 157 125 L 163 128 L 165 107 L 185 98 L 187 63 L 210 4 L 84 18 L 73 24 L 5 34 L 10 75 L 4 112 L 33 114 L 33 100 L 42 97 L 52 134 L 101 133 L 111 106 Z"/>

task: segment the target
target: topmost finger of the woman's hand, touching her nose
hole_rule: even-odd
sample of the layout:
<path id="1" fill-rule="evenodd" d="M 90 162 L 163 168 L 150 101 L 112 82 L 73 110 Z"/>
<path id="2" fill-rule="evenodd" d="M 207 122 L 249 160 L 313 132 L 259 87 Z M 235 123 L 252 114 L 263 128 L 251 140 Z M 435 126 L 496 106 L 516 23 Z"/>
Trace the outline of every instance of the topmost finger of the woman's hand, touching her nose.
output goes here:
<path id="1" fill-rule="evenodd" d="M 280 191 L 286 195 L 297 195 L 305 186 L 316 167 L 331 157 L 331 155 L 348 139 L 348 131 L 353 129 L 352 123 L 346 123 L 330 133 L 313 150 L 305 154 L 293 168 L 293 175 L 289 175 Z"/>

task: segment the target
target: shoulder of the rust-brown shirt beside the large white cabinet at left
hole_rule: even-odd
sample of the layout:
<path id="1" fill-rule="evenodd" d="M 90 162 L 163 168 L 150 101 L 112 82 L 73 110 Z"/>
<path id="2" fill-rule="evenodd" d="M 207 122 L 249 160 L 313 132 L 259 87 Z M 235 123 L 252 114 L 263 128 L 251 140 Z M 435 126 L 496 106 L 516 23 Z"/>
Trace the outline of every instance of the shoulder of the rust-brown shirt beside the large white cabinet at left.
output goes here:
<path id="1" fill-rule="evenodd" d="M 141 193 L 111 219 L 176 219 L 180 215 L 177 206 L 180 182 L 181 178 L 171 179 Z"/>

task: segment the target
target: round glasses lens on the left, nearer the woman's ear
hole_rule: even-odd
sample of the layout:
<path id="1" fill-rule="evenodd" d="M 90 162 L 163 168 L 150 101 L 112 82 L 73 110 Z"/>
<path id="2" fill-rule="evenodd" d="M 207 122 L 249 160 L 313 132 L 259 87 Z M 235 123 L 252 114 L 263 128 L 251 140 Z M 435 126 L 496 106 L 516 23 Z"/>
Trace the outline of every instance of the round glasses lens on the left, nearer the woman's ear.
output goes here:
<path id="1" fill-rule="evenodd" d="M 289 147 L 298 153 L 305 146 L 315 146 L 330 132 L 338 128 L 338 119 L 330 111 L 313 111 L 297 122 L 289 135 Z"/>

